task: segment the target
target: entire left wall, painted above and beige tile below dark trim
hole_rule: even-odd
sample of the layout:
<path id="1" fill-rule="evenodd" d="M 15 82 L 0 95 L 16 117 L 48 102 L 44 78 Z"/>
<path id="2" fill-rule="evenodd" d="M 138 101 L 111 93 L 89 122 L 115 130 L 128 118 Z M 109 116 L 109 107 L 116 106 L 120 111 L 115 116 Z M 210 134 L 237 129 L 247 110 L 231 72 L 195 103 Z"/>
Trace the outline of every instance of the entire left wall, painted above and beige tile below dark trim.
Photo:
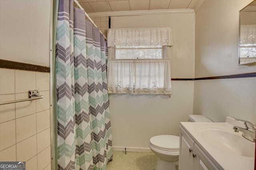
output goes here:
<path id="1" fill-rule="evenodd" d="M 0 0 L 0 59 L 49 66 L 50 1 Z M 0 68 L 0 161 L 26 161 L 26 170 L 50 170 L 50 73 Z"/>

